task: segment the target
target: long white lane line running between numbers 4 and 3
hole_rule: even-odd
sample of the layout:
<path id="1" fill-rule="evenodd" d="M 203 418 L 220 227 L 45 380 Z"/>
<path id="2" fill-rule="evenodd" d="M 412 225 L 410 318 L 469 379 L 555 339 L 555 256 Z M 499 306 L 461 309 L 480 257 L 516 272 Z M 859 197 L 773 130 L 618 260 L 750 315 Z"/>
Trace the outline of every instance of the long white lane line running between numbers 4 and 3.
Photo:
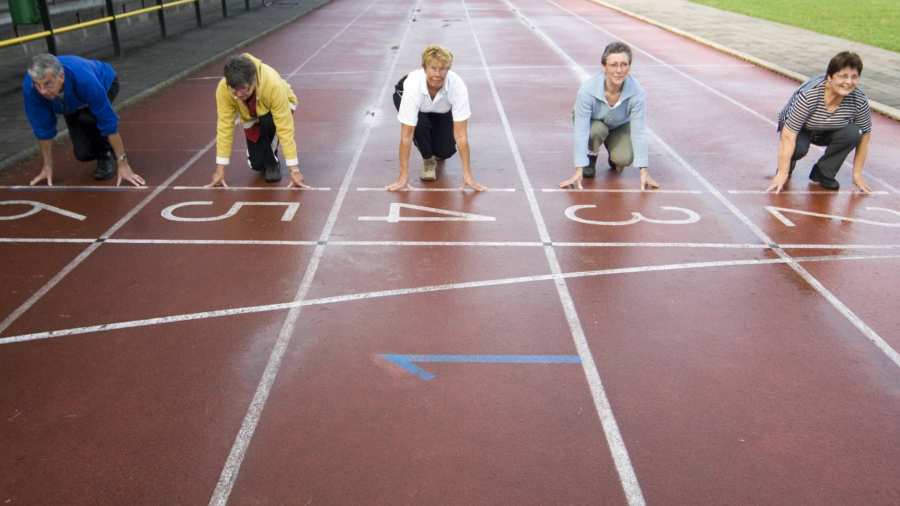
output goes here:
<path id="1" fill-rule="evenodd" d="M 491 74 L 490 68 L 488 67 L 487 57 L 484 54 L 484 49 L 481 47 L 481 41 L 478 39 L 478 34 L 475 33 L 475 25 L 472 22 L 472 17 L 469 13 L 468 6 L 466 6 L 465 0 L 462 0 L 462 3 L 463 8 L 466 11 L 466 20 L 468 21 L 469 28 L 472 31 L 472 37 L 475 39 L 475 47 L 478 49 L 478 55 L 481 58 L 484 73 L 487 77 L 488 85 L 491 89 L 491 95 L 494 98 L 494 103 L 496 104 L 497 112 L 500 116 L 500 121 L 503 124 L 503 130 L 506 134 L 506 140 L 509 143 L 510 149 L 512 150 L 513 159 L 516 164 L 516 170 L 518 171 L 519 178 L 522 181 L 522 187 L 525 189 L 525 195 L 528 197 L 528 206 L 537 225 L 540 239 L 542 242 L 550 244 L 550 233 L 547 231 L 547 225 L 544 222 L 544 217 L 541 214 L 540 206 L 537 203 L 537 197 L 534 193 L 534 187 L 531 185 L 531 181 L 528 178 L 528 173 L 525 171 L 525 163 L 522 161 L 522 155 L 519 152 L 518 145 L 516 144 L 515 137 L 513 136 L 512 128 L 509 124 L 509 118 L 506 115 L 503 103 L 500 100 L 500 94 L 497 91 L 496 84 L 494 83 L 494 78 Z M 508 1 L 505 1 L 505 3 L 510 9 L 513 10 L 513 12 L 516 12 L 517 9 L 514 5 L 512 5 Z M 550 42 L 552 44 L 552 41 Z M 556 252 L 554 251 L 553 247 L 545 246 L 544 254 L 547 257 L 547 263 L 550 265 L 550 271 L 556 275 L 561 274 L 562 268 L 560 267 L 559 260 L 556 257 Z M 597 412 L 597 416 L 600 418 L 600 424 L 603 427 L 603 433 L 606 437 L 607 445 L 610 449 L 610 453 L 612 454 L 613 462 L 616 466 L 616 471 L 619 474 L 619 481 L 621 482 L 625 498 L 628 500 L 628 504 L 630 506 L 644 505 L 646 504 L 646 502 L 644 501 L 644 495 L 641 492 L 641 487 L 638 483 L 637 475 L 634 472 L 634 467 L 631 464 L 631 457 L 629 457 L 628 455 L 628 450 L 625 447 L 625 441 L 622 438 L 622 433 L 619 430 L 619 425 L 616 422 L 615 416 L 613 415 L 612 406 L 609 403 L 609 398 L 606 395 L 606 390 L 604 389 L 603 383 L 600 379 L 600 372 L 598 370 L 597 363 L 594 361 L 593 353 L 591 352 L 590 346 L 587 343 L 587 338 L 584 334 L 584 328 L 581 325 L 581 320 L 578 318 L 578 312 L 575 309 L 575 302 L 572 300 L 572 295 L 569 293 L 569 287 L 566 284 L 565 279 L 562 278 L 555 279 L 554 284 L 556 286 L 556 292 L 559 296 L 560 304 L 562 305 L 563 311 L 566 315 L 566 320 L 569 324 L 569 331 L 572 334 L 572 340 L 574 341 L 575 348 L 578 351 L 578 356 L 581 359 L 585 379 L 587 380 L 588 386 L 591 391 L 591 397 L 594 401 L 594 409 Z"/>

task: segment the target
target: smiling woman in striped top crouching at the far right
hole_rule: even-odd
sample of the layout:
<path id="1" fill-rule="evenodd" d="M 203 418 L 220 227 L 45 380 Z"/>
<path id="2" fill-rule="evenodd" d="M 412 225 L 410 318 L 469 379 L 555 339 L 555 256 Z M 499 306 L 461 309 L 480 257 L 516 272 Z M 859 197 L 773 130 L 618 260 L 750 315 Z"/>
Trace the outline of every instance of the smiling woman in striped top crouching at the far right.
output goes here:
<path id="1" fill-rule="evenodd" d="M 778 172 L 767 191 L 778 193 L 790 179 L 797 160 L 806 156 L 809 144 L 825 146 L 825 154 L 813 165 L 809 179 L 829 190 L 840 188 L 835 176 L 841 164 L 856 149 L 853 157 L 853 185 L 871 192 L 862 177 L 872 116 L 869 99 L 857 85 L 862 60 L 856 53 L 836 54 L 825 75 L 803 83 L 778 116 Z"/>

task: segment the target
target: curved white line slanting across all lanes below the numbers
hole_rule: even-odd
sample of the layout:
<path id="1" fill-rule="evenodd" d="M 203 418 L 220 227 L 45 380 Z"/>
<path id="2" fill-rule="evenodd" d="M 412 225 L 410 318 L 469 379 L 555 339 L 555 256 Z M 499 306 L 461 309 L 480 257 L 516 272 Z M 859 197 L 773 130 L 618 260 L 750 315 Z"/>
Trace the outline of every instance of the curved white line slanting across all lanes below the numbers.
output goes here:
<path id="1" fill-rule="evenodd" d="M 898 259 L 897 255 L 824 255 L 812 257 L 796 257 L 797 262 L 840 262 L 840 261 L 873 261 Z M 28 341 L 38 341 L 43 339 L 54 339 L 68 336 L 76 336 L 82 334 L 92 334 L 98 332 L 111 332 L 114 330 L 132 329 L 138 327 L 150 327 L 154 325 L 166 325 L 171 323 L 206 320 L 211 318 L 223 318 L 229 316 L 238 316 L 246 314 L 267 313 L 271 311 L 281 311 L 297 307 L 321 306 L 325 304 L 340 304 L 344 302 L 358 302 L 371 299 L 381 299 L 386 297 L 400 297 L 404 295 L 419 295 L 424 293 L 445 292 L 453 290 L 468 290 L 472 288 L 487 288 L 505 285 L 535 283 L 541 281 L 554 281 L 558 279 L 576 279 L 589 278 L 598 276 L 613 276 L 619 274 L 643 274 L 651 272 L 666 272 L 691 269 L 718 269 L 724 267 L 746 267 L 756 265 L 777 265 L 786 264 L 788 260 L 783 258 L 765 258 L 765 259 L 747 259 L 747 260 L 722 260 L 722 261 L 703 261 L 703 262 L 683 262 L 675 264 L 663 265 L 642 265 L 636 267 L 619 267 L 611 269 L 598 269 L 591 271 L 575 271 L 561 274 L 541 274 L 534 276 L 518 276 L 513 278 L 487 279 L 482 281 L 467 281 L 460 283 L 446 283 L 441 285 L 426 285 L 412 288 L 398 288 L 394 290 L 377 290 L 372 292 L 351 293 L 346 295 L 335 295 L 330 297 L 320 297 L 317 299 L 306 299 L 294 302 L 281 302 L 275 304 L 263 304 L 258 306 L 236 307 L 228 309 L 217 309 L 211 311 L 200 311 L 196 313 L 177 314 L 169 316 L 158 316 L 145 318 L 141 320 L 130 320 L 124 322 L 102 323 L 97 325 L 89 325 L 84 327 L 74 327 L 68 329 L 47 330 L 41 332 L 33 332 L 30 334 L 19 334 L 0 338 L 0 345 L 23 343 Z"/>

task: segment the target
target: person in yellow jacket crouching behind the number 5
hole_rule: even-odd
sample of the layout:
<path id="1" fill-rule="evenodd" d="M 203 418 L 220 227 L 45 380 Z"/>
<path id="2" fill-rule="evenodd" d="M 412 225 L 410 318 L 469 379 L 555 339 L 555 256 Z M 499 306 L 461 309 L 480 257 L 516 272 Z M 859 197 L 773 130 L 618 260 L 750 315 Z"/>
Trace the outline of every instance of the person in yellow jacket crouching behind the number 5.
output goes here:
<path id="1" fill-rule="evenodd" d="M 228 58 L 224 74 L 216 88 L 216 171 L 206 186 L 228 186 L 225 166 L 231 158 L 234 125 L 239 122 L 247 139 L 250 168 L 262 172 L 267 182 L 280 181 L 280 145 L 291 175 L 288 186 L 309 188 L 303 184 L 297 159 L 293 115 L 297 96 L 291 85 L 275 69 L 248 53 Z"/>

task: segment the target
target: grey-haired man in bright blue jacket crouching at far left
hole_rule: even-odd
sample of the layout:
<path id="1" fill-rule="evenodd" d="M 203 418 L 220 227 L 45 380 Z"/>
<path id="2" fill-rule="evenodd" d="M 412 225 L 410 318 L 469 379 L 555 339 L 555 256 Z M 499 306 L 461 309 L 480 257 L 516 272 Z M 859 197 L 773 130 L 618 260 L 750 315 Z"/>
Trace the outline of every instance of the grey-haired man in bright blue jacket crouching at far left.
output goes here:
<path id="1" fill-rule="evenodd" d="M 62 114 L 69 128 L 75 158 L 97 161 L 94 179 L 105 180 L 117 173 L 135 186 L 146 184 L 128 164 L 119 135 L 119 117 L 112 101 L 119 92 L 116 71 L 107 63 L 78 56 L 39 54 L 31 60 L 22 83 L 25 114 L 38 139 L 43 158 L 40 174 L 31 180 L 53 185 L 53 138 L 56 115 Z"/>

